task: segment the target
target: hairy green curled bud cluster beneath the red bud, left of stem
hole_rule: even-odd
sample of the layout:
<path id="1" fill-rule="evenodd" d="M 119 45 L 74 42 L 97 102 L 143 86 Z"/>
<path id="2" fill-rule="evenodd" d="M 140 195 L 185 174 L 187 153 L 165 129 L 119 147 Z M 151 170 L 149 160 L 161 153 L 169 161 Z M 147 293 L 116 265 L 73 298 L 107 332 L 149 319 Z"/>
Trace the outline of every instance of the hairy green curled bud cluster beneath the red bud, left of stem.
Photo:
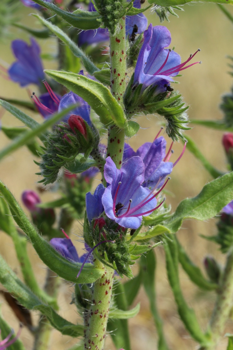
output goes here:
<path id="1" fill-rule="evenodd" d="M 85 125 L 86 137 L 76 128 L 73 132 L 67 123 L 56 125 L 55 130 L 48 135 L 44 143 L 45 153 L 41 155 L 41 162 L 36 162 L 41 169 L 37 175 L 43 176 L 39 182 L 53 183 L 57 180 L 61 167 L 75 162 L 75 157 L 79 153 L 84 153 L 84 159 L 86 159 L 92 149 L 97 147 L 99 135 L 86 122 Z"/>

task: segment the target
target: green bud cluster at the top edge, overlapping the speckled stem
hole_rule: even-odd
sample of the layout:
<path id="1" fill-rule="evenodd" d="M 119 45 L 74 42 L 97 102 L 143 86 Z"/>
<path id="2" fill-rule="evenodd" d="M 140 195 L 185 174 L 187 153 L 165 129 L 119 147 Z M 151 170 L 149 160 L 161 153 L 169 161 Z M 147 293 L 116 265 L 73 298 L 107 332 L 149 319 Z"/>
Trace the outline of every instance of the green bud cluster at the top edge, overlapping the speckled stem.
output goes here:
<path id="1" fill-rule="evenodd" d="M 115 34 L 119 19 L 126 15 L 132 5 L 133 2 L 127 3 L 125 0 L 95 0 L 95 8 L 101 15 L 101 27 L 107 27 L 111 34 Z"/>

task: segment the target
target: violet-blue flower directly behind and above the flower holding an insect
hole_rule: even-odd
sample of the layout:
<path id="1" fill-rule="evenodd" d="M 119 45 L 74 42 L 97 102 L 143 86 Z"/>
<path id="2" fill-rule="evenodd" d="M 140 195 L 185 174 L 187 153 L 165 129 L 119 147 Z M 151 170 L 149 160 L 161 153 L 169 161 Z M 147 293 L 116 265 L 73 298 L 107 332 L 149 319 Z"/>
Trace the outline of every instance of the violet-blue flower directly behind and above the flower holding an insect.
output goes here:
<path id="1" fill-rule="evenodd" d="M 156 138 L 153 142 L 146 142 L 140 146 L 137 152 L 125 144 L 123 161 L 132 156 L 139 156 L 145 165 L 145 174 L 143 187 L 160 188 L 165 180 L 165 177 L 172 172 L 173 163 L 166 162 L 169 156 L 170 149 L 166 155 L 166 140 L 164 137 Z"/>

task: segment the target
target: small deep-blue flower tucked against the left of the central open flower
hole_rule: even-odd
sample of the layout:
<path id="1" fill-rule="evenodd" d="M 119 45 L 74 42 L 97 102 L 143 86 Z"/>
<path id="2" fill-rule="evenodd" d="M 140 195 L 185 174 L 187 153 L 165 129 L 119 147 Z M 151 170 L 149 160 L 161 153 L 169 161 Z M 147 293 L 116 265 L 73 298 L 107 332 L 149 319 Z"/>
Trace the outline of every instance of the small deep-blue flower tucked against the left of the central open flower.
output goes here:
<path id="1" fill-rule="evenodd" d="M 99 217 L 104 211 L 103 204 L 101 202 L 104 190 L 105 187 L 102 183 L 100 183 L 96 187 L 93 195 L 90 192 L 86 194 L 86 210 L 89 223 L 91 223 L 94 218 Z"/>

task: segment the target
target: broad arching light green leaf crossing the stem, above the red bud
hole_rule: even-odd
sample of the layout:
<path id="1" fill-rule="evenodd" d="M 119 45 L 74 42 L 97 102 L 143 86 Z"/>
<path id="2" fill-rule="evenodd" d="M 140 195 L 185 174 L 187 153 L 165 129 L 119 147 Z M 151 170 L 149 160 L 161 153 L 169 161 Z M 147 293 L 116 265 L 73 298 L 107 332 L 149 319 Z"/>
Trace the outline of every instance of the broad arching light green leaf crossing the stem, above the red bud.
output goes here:
<path id="1" fill-rule="evenodd" d="M 119 128 L 124 128 L 124 111 L 106 86 L 83 75 L 56 70 L 45 72 L 82 97 L 98 114 L 101 123 L 109 125 L 114 121 Z"/>

